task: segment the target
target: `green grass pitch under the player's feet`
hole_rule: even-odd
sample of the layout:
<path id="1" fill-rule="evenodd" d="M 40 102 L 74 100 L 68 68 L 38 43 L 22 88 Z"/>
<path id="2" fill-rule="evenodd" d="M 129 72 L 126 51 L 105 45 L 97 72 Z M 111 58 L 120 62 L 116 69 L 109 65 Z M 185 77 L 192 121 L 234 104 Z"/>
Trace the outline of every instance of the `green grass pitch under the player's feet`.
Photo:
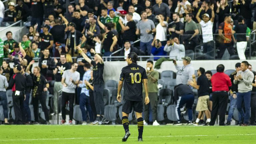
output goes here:
<path id="1" fill-rule="evenodd" d="M 122 142 L 122 125 L 0 125 L 0 144 L 256 144 L 255 126 L 144 126 L 143 142 L 129 129 Z"/>

